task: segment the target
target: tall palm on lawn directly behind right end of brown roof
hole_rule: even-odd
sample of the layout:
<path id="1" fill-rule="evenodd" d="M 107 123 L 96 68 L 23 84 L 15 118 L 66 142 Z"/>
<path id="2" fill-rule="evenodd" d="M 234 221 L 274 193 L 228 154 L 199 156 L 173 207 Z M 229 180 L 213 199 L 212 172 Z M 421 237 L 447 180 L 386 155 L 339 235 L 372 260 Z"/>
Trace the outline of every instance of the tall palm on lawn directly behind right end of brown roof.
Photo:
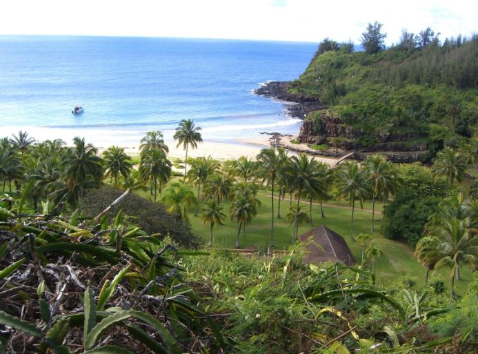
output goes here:
<path id="1" fill-rule="evenodd" d="M 350 219 L 350 239 L 354 239 L 354 210 L 355 199 L 359 199 L 360 204 L 364 202 L 364 197 L 368 189 L 368 176 L 365 171 L 359 167 L 357 162 L 346 161 L 339 170 L 339 193 L 348 197 L 352 204 L 352 217 Z"/>

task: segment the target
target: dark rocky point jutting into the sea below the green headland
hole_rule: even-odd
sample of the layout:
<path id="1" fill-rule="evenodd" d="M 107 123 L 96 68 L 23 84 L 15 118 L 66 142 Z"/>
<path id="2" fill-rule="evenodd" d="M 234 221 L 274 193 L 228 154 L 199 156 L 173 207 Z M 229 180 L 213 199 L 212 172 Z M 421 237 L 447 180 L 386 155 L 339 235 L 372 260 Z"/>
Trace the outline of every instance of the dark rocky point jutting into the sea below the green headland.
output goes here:
<path id="1" fill-rule="evenodd" d="M 256 95 L 283 101 L 286 104 L 286 111 L 290 117 L 303 119 L 310 112 L 327 108 L 317 99 L 301 95 L 290 95 L 287 92 L 289 83 L 287 81 L 270 81 L 254 90 Z"/>

